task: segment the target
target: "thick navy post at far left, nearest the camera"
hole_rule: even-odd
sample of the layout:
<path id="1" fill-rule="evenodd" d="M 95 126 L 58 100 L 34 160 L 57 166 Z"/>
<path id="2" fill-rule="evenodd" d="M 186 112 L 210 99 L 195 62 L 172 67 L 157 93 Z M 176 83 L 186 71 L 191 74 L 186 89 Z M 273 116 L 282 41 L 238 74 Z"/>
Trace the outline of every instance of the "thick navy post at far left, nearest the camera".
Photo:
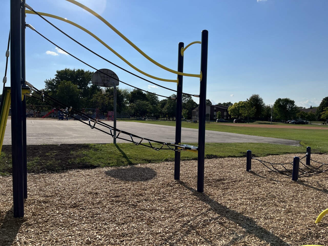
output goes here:
<path id="1" fill-rule="evenodd" d="M 14 217 L 24 216 L 21 0 L 10 0 L 11 148 Z"/>

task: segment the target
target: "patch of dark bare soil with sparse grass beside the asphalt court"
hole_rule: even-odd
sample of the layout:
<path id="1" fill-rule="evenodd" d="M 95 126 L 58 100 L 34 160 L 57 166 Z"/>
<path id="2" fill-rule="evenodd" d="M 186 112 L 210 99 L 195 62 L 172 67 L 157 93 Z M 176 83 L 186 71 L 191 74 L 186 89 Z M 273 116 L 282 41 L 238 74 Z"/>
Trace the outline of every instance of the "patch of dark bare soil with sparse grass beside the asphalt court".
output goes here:
<path id="1" fill-rule="evenodd" d="M 83 150 L 90 150 L 88 144 L 60 144 L 60 145 L 28 145 L 27 146 L 27 171 L 28 173 L 62 172 L 71 169 L 96 168 L 90 163 L 77 162 L 76 159 L 83 154 L 74 154 Z M 11 145 L 3 145 L 2 152 L 11 159 Z M 12 173 L 11 164 L 6 166 L 7 173 Z"/>

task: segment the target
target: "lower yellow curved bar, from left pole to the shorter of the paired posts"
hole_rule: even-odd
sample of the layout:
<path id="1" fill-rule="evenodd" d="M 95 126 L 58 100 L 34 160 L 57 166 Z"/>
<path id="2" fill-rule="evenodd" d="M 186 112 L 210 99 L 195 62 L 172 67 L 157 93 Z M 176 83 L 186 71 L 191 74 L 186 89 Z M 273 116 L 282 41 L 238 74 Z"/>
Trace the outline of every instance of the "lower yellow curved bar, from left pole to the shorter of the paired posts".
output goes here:
<path id="1" fill-rule="evenodd" d="M 30 11 L 30 10 L 25 10 L 25 13 L 26 14 L 35 14 L 33 11 Z M 126 64 L 128 64 L 130 67 L 132 67 L 134 70 L 142 73 L 143 75 L 146 75 L 147 77 L 150 77 L 150 78 L 153 78 L 153 79 L 156 79 L 156 80 L 160 80 L 160 81 L 166 81 L 166 82 L 174 82 L 174 83 L 177 83 L 177 80 L 175 79 L 162 79 L 162 78 L 158 78 L 158 77 L 155 77 L 153 75 L 150 75 L 146 72 L 143 72 L 141 71 L 140 69 L 136 68 L 135 66 L 133 66 L 130 62 L 128 62 L 123 56 L 121 56 L 119 53 L 117 53 L 116 51 L 114 51 L 109 45 L 107 45 L 104 41 L 102 41 L 100 38 L 98 38 L 96 35 L 94 35 L 91 31 L 85 29 L 84 27 L 81 27 L 80 25 L 70 21 L 70 20 L 67 20 L 65 18 L 62 18 L 62 17 L 59 17 L 57 15 L 53 15 L 53 14 L 48 14 L 48 13 L 43 13 L 43 12 L 38 12 L 40 15 L 43 15 L 43 16 L 48 16 L 48 17 L 51 17 L 51 18 L 55 18 L 57 20 L 61 20 L 61 21 L 65 21 L 79 29 L 81 29 L 82 31 L 85 31 L 86 33 L 88 33 L 89 35 L 91 35 L 92 37 L 94 37 L 97 41 L 99 41 L 103 46 L 105 46 L 107 49 L 109 49 L 110 51 L 112 51 L 116 56 L 118 56 L 120 59 L 122 59 Z"/>

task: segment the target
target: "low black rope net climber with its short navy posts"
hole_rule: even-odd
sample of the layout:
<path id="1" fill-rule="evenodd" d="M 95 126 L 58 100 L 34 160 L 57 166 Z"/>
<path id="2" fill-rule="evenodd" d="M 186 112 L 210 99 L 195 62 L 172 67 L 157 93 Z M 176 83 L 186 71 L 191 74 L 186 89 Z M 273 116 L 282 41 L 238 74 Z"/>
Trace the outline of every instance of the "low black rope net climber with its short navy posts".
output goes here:
<path id="1" fill-rule="evenodd" d="M 305 158 L 305 164 L 302 160 Z M 292 177 L 293 181 L 297 181 L 298 177 L 308 177 L 315 174 L 321 174 L 328 171 L 328 164 L 321 163 L 311 159 L 311 147 L 306 148 L 306 154 L 299 158 L 295 156 L 292 162 L 287 163 L 271 163 L 268 161 L 263 161 L 252 157 L 252 151 L 247 151 L 246 156 L 246 171 L 251 171 L 252 159 L 258 160 L 262 163 L 266 168 L 270 169 L 273 172 L 280 173 Z M 313 162 L 312 165 L 310 162 Z M 301 166 L 300 166 L 301 164 Z M 317 165 L 317 166 L 314 166 Z M 327 169 L 324 169 L 327 168 Z M 323 216 L 323 215 L 322 215 Z"/>

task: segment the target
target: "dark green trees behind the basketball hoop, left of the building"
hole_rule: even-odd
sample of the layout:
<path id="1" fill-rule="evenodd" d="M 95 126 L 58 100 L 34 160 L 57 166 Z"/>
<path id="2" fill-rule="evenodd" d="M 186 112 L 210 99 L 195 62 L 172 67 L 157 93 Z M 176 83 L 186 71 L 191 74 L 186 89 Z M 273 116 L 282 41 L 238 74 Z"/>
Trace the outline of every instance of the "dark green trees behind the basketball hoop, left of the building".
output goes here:
<path id="1" fill-rule="evenodd" d="M 78 110 L 82 108 L 99 109 L 106 114 L 113 111 L 113 88 L 101 88 L 91 83 L 93 72 L 83 69 L 57 70 L 54 78 L 46 79 L 43 91 L 65 105 Z M 37 95 L 37 92 L 33 94 Z M 172 94 L 171 97 L 176 97 Z M 39 105 L 37 111 L 49 111 L 47 102 L 27 97 L 27 105 Z M 57 107 L 57 105 L 54 105 Z M 198 106 L 190 95 L 182 97 L 182 116 L 191 119 L 191 112 Z M 116 88 L 116 110 L 126 112 L 133 117 L 153 117 L 173 119 L 176 111 L 176 100 L 165 98 L 159 100 L 157 95 L 139 89 Z"/>

